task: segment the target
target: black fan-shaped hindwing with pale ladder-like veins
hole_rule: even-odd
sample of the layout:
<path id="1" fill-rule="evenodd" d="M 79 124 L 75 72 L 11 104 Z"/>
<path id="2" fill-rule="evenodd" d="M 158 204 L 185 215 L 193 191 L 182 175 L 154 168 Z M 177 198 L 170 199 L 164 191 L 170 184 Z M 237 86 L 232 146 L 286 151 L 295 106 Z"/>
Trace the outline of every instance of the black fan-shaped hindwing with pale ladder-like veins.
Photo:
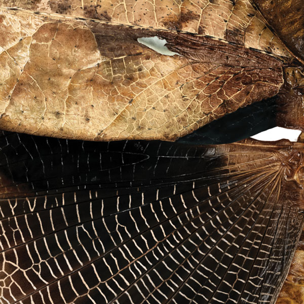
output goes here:
<path id="1" fill-rule="evenodd" d="M 4 133 L 1 300 L 274 303 L 303 226 L 297 145 Z"/>

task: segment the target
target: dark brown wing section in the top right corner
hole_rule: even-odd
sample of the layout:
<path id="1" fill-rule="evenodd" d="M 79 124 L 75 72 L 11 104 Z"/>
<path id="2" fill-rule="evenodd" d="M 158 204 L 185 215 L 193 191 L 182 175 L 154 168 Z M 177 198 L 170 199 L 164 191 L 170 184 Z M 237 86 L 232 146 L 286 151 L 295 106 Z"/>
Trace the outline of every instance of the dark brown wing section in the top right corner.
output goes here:
<path id="1" fill-rule="evenodd" d="M 304 64 L 304 4 L 301 0 L 251 0 L 286 48 Z"/>

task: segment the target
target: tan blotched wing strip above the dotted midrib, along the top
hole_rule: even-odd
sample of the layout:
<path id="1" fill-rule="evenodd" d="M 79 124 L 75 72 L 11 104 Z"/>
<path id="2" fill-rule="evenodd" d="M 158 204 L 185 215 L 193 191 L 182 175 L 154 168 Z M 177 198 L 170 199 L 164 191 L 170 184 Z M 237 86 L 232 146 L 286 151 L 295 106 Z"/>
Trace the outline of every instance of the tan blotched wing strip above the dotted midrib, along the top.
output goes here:
<path id="1" fill-rule="evenodd" d="M 290 57 L 283 44 L 256 14 L 249 0 L 9 0 L 4 3 L 2 0 L 0 6 L 183 30 Z"/>

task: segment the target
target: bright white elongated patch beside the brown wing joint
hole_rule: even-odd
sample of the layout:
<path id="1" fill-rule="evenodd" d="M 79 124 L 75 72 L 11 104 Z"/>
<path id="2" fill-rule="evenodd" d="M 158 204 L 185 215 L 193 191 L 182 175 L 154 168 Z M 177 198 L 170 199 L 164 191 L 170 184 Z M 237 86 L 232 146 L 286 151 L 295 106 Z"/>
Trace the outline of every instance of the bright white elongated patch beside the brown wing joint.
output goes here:
<path id="1" fill-rule="evenodd" d="M 263 140 L 263 141 L 275 141 L 283 138 L 289 139 L 290 141 L 297 141 L 298 136 L 301 131 L 291 130 L 281 127 L 275 127 L 263 132 L 260 132 L 254 136 L 251 136 L 253 139 Z"/>

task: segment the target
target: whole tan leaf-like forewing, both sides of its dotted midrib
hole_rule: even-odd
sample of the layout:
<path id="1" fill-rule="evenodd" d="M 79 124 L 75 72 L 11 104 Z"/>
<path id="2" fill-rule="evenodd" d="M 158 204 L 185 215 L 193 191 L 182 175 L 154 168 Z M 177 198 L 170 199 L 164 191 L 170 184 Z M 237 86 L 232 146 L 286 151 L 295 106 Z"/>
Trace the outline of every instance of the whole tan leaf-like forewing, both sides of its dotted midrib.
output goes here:
<path id="1" fill-rule="evenodd" d="M 93 7 L 67 1 L 66 10 L 53 2 L 0 1 L 0 127 L 89 140 L 175 140 L 276 95 L 283 47 L 263 43 L 273 35 L 255 27 L 249 3 L 224 1 L 215 11 L 205 2 L 197 9 L 201 20 L 186 21 L 182 16 L 195 11 L 190 2 L 155 3 L 149 11 L 135 1 Z M 171 9 L 180 12 L 180 29 L 162 18 Z M 201 22 L 210 28 L 201 31 Z M 226 26 L 217 31 L 215 24 Z M 177 54 L 162 55 L 137 40 L 155 36 Z"/>

